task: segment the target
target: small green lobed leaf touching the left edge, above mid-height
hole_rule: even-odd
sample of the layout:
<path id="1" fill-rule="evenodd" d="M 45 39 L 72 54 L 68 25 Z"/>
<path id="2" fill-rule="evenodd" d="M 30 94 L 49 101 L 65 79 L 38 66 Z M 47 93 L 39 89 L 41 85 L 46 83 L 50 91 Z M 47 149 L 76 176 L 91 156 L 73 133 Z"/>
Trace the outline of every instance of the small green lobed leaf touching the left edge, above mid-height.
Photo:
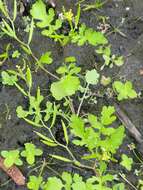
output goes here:
<path id="1" fill-rule="evenodd" d="M 2 84 L 13 86 L 17 81 L 17 76 L 16 75 L 9 75 L 8 72 L 2 71 L 1 73 L 2 76 Z"/>

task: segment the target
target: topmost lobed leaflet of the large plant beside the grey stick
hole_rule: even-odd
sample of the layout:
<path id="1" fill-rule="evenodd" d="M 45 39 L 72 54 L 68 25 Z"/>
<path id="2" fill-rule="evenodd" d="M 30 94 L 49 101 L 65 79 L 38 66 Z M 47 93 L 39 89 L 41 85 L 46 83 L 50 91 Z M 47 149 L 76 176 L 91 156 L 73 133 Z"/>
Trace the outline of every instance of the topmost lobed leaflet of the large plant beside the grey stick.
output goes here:
<path id="1" fill-rule="evenodd" d="M 115 108 L 113 106 L 103 106 L 101 112 L 101 122 L 103 125 L 110 125 L 116 120 Z"/>

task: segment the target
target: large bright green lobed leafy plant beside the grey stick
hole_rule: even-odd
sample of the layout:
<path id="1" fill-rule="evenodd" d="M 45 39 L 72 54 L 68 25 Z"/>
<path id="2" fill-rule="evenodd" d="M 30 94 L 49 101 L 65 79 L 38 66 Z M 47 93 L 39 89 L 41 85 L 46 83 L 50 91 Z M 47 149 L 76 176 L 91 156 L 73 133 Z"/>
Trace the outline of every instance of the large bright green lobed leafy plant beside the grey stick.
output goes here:
<path id="1" fill-rule="evenodd" d="M 112 154 L 122 144 L 124 127 L 120 126 L 116 129 L 107 127 L 116 120 L 114 112 L 114 107 L 104 106 L 99 118 L 89 114 L 88 119 L 84 122 L 75 115 L 71 117 L 71 133 L 75 136 L 73 143 L 78 146 L 86 146 L 90 151 L 89 155 L 83 157 L 84 159 L 110 160 Z M 87 124 L 88 127 L 86 127 Z M 102 139 L 102 137 L 104 138 Z"/>

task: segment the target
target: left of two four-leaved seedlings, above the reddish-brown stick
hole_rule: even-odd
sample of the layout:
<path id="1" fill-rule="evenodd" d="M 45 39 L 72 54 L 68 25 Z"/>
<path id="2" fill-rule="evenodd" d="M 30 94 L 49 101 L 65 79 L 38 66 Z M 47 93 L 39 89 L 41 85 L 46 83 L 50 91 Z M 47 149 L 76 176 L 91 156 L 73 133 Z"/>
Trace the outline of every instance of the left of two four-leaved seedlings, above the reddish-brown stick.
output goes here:
<path id="1" fill-rule="evenodd" d="M 10 168 L 14 164 L 17 166 L 21 166 L 23 164 L 20 159 L 20 151 L 19 150 L 10 150 L 10 151 L 1 151 L 1 155 L 4 158 L 4 165 L 7 168 Z"/>

